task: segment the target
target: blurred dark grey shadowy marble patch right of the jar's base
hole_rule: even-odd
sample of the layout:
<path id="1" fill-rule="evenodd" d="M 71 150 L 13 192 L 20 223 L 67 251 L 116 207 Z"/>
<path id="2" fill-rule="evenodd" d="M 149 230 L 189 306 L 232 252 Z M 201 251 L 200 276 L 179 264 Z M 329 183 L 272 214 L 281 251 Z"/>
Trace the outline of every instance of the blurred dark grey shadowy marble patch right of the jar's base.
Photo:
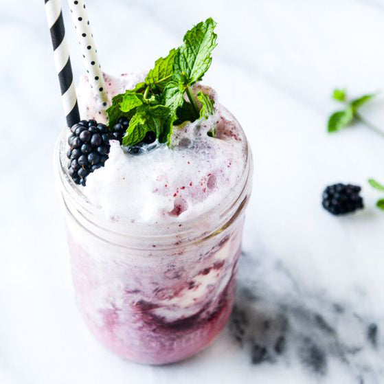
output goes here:
<path id="1" fill-rule="evenodd" d="M 253 365 L 301 365 L 324 379 L 340 363 L 360 384 L 383 383 L 378 319 L 326 293 L 304 291 L 282 262 L 242 255 L 229 329 Z"/>

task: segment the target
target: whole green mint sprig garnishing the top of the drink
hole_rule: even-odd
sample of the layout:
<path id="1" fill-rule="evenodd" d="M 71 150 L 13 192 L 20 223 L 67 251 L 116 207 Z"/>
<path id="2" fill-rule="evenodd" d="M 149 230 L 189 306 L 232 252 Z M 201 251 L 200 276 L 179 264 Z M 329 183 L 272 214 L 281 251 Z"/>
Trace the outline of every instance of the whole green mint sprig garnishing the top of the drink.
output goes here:
<path id="1" fill-rule="evenodd" d="M 202 106 L 199 109 L 191 86 L 203 78 L 211 65 L 217 38 L 215 26 L 211 18 L 195 25 L 185 34 L 181 47 L 156 60 L 144 82 L 112 99 L 106 110 L 109 128 L 122 116 L 129 120 L 124 146 L 137 144 L 148 131 L 170 146 L 174 124 L 193 122 L 214 112 L 213 100 L 201 92 L 197 95 Z"/>

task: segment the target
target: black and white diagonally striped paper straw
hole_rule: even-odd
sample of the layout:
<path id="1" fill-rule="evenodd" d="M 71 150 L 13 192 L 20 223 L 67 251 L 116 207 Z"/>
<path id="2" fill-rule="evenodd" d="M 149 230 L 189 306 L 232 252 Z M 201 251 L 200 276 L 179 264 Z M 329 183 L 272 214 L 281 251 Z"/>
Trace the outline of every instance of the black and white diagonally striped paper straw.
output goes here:
<path id="1" fill-rule="evenodd" d="M 80 113 L 71 60 L 65 38 L 63 13 L 61 12 L 60 0 L 44 0 L 44 3 L 48 27 L 51 32 L 52 46 L 54 47 L 54 60 L 58 81 L 60 82 L 61 100 L 67 119 L 67 126 L 71 127 L 80 121 Z"/>

